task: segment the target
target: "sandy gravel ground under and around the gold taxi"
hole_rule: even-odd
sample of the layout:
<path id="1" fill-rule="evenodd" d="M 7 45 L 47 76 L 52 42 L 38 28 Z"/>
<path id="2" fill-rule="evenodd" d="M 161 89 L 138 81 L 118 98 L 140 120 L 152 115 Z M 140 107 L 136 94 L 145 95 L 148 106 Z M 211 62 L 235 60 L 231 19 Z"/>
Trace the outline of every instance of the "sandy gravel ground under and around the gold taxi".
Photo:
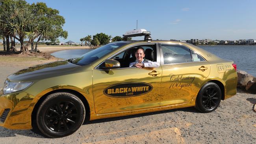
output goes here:
<path id="1" fill-rule="evenodd" d="M 42 61 L 41 63 L 43 63 Z M 6 76 L 28 65 L 1 65 L 0 88 Z M 246 143 L 256 142 L 256 94 L 238 92 L 212 113 L 193 107 L 93 120 L 63 138 L 45 138 L 37 129 L 0 127 L 0 144 L 69 143 Z"/>

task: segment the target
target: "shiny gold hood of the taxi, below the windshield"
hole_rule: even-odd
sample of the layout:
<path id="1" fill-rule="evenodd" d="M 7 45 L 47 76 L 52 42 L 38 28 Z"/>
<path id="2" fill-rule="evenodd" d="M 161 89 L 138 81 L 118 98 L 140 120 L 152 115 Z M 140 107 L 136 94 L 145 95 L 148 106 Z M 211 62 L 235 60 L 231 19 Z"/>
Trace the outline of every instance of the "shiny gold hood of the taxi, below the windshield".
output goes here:
<path id="1" fill-rule="evenodd" d="M 8 76 L 7 79 L 10 81 L 33 81 L 37 79 L 45 79 L 72 73 L 72 70 L 78 67 L 79 65 L 74 65 L 68 61 L 56 61 L 19 70 L 18 72 Z"/>

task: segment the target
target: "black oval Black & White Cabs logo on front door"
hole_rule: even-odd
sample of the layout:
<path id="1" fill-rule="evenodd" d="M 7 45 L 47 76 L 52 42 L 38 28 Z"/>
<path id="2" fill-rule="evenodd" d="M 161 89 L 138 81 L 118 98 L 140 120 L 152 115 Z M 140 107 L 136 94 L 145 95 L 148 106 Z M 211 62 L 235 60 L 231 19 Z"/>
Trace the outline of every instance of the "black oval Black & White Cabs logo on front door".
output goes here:
<path id="1" fill-rule="evenodd" d="M 129 98 L 134 96 L 141 96 L 147 94 L 153 89 L 150 83 L 140 81 L 129 81 L 123 83 L 115 83 L 109 85 L 103 90 L 106 96 L 114 98 Z"/>

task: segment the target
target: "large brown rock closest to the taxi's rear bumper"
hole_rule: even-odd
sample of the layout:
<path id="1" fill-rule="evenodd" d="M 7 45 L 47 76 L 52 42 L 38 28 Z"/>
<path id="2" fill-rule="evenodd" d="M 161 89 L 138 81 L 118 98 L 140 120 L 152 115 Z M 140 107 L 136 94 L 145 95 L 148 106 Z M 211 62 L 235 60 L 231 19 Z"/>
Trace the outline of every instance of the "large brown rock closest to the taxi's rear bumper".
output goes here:
<path id="1" fill-rule="evenodd" d="M 254 79 L 254 76 L 247 74 L 247 72 L 243 70 L 237 70 L 237 87 L 244 89 L 249 81 L 252 81 Z"/>

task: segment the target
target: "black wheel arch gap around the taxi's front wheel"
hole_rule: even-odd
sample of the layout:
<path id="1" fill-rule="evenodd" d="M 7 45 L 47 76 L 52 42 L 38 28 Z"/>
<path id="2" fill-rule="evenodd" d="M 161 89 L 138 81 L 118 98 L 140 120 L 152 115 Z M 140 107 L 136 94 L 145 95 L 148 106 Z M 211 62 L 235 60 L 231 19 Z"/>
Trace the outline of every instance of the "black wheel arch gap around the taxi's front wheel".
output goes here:
<path id="1" fill-rule="evenodd" d="M 57 90 L 52 90 L 52 91 L 44 94 L 35 103 L 35 106 L 33 107 L 33 111 L 32 111 L 32 114 L 31 114 L 32 125 L 35 124 L 36 112 L 37 112 L 37 109 L 39 108 L 39 105 L 45 100 L 45 98 L 48 95 L 56 93 L 56 92 L 68 92 L 68 93 L 71 93 L 71 94 L 74 94 L 74 95 L 78 96 L 78 98 L 80 98 L 80 100 L 83 102 L 83 105 L 85 107 L 85 122 L 90 120 L 90 113 L 91 113 L 90 106 L 89 106 L 89 103 L 86 100 L 85 96 L 83 96 L 83 94 L 81 94 L 80 92 L 78 92 L 76 90 L 72 90 L 72 89 L 57 89 Z"/>

